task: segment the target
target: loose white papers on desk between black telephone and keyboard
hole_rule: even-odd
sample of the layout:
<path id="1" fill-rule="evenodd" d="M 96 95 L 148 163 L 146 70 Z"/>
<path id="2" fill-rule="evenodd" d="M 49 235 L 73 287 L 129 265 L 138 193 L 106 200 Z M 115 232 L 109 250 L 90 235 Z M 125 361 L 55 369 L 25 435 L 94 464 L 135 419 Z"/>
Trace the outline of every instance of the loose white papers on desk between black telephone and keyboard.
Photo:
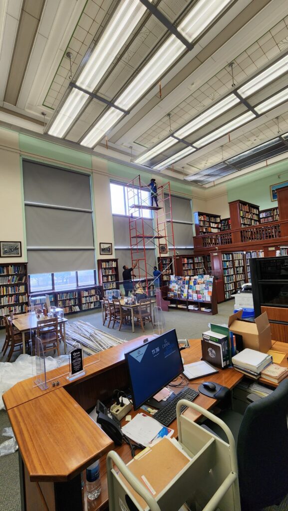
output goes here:
<path id="1" fill-rule="evenodd" d="M 147 447 L 162 429 L 163 425 L 156 419 L 152 419 L 145 413 L 138 413 L 134 419 L 123 426 L 122 431 L 134 442 Z"/>

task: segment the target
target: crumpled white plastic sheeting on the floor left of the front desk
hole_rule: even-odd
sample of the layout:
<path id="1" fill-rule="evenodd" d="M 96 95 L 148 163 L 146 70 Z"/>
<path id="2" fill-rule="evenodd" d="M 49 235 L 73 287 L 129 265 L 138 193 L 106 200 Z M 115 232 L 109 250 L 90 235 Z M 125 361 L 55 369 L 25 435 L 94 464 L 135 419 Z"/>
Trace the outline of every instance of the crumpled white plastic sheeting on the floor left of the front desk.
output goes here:
<path id="1" fill-rule="evenodd" d="M 2 400 L 2 394 L 4 394 L 4 392 L 13 387 L 15 383 L 35 376 L 32 374 L 33 359 L 35 359 L 35 357 L 31 357 L 30 355 L 19 355 L 15 362 L 0 362 L 0 410 L 4 408 Z M 61 355 L 56 358 L 46 357 L 46 367 L 48 371 L 65 364 L 69 364 L 68 355 Z"/>

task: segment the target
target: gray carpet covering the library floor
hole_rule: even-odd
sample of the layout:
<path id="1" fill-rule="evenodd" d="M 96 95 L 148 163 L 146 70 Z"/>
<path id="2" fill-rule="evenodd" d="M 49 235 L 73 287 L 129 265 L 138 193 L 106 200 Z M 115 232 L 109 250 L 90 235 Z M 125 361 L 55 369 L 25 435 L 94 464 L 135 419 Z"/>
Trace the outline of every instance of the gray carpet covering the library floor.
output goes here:
<path id="1" fill-rule="evenodd" d="M 227 301 L 224 304 L 218 304 L 218 314 L 211 316 L 205 314 L 197 314 L 187 311 L 169 311 L 164 313 L 166 329 L 176 329 L 179 339 L 197 339 L 200 338 L 205 330 L 208 330 L 208 323 L 221 324 L 227 323 L 228 317 L 233 313 L 234 300 Z M 118 328 L 112 330 L 107 329 L 102 325 L 102 314 L 100 311 L 87 311 L 80 312 L 78 314 L 71 314 L 68 316 L 69 321 L 87 321 L 93 324 L 93 326 L 113 333 L 120 339 L 134 339 L 135 337 L 142 335 L 142 330 L 139 327 L 135 328 L 135 333 L 132 333 L 129 325 L 124 325 L 121 331 Z M 107 324 L 107 323 L 106 323 Z M 145 333 L 152 333 L 150 324 L 145 325 Z M 0 330 L 0 349 L 5 339 L 5 331 Z M 63 344 L 61 343 L 61 354 L 63 354 Z M 11 362 L 14 361 L 19 353 L 13 354 Z M 7 357 L 0 359 L 1 362 L 5 362 Z M 10 426 L 8 415 L 6 411 L 0 411 L 0 434 L 3 428 Z M 4 442 L 7 437 L 1 436 L 0 443 Z M 19 489 L 19 476 L 18 476 L 18 453 L 9 454 L 8 456 L 0 457 L 0 511 L 20 511 L 20 489 Z M 35 511 L 37 511 L 35 509 Z M 280 506 L 272 506 L 265 508 L 265 511 L 288 511 L 288 496 L 283 500 Z"/>

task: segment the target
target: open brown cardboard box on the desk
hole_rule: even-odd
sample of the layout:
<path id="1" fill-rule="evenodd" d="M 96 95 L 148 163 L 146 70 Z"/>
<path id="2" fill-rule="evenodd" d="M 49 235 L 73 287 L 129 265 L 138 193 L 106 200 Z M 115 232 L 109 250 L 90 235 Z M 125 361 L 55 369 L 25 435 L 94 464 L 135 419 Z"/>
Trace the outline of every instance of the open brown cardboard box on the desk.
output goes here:
<path id="1" fill-rule="evenodd" d="M 233 334 L 241 335 L 243 347 L 251 348 L 262 353 L 271 349 L 271 328 L 266 312 L 255 318 L 255 323 L 241 319 L 242 311 L 235 312 L 230 316 L 228 327 Z"/>

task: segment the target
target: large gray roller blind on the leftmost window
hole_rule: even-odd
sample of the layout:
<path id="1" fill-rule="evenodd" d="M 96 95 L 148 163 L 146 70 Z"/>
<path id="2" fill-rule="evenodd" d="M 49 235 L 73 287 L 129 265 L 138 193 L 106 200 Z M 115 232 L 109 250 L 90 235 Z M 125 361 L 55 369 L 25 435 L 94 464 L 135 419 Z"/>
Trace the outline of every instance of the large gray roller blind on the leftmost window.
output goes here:
<path id="1" fill-rule="evenodd" d="M 29 273 L 95 268 L 90 175 L 23 162 Z"/>

